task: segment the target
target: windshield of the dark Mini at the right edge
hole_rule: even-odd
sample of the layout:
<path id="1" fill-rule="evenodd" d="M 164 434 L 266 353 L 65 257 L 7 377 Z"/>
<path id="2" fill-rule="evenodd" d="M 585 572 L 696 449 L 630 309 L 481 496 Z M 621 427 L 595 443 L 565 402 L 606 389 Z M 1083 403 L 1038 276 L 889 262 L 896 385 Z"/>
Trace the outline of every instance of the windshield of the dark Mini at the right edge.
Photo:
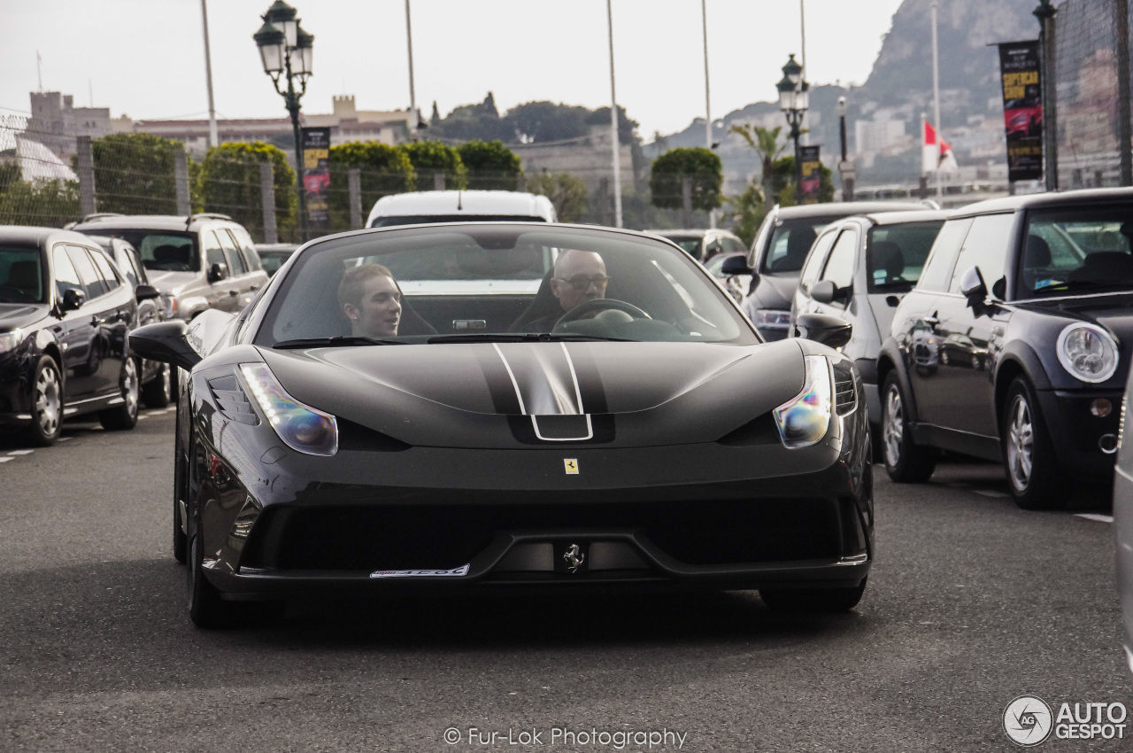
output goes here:
<path id="1" fill-rule="evenodd" d="M 1020 295 L 1133 289 L 1133 204 L 1032 212 Z"/>

